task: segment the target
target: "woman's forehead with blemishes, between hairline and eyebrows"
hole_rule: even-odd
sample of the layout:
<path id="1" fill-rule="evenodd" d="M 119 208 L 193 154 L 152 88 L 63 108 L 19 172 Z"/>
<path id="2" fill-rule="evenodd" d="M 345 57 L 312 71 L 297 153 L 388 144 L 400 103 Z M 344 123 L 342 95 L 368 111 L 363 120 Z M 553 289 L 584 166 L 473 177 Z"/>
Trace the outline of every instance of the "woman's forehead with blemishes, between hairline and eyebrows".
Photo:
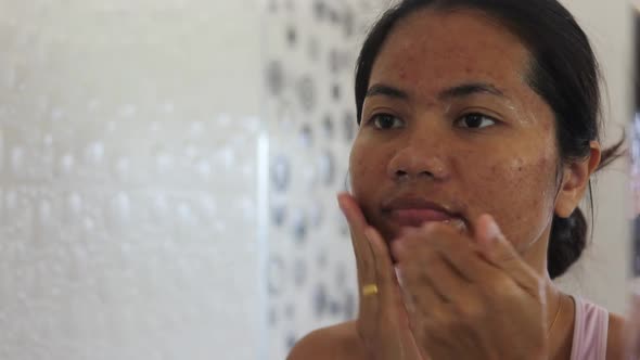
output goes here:
<path id="1" fill-rule="evenodd" d="M 515 36 L 478 12 L 421 11 L 388 35 L 370 85 L 439 92 L 455 83 L 490 82 L 507 92 L 526 86 L 528 59 Z"/>

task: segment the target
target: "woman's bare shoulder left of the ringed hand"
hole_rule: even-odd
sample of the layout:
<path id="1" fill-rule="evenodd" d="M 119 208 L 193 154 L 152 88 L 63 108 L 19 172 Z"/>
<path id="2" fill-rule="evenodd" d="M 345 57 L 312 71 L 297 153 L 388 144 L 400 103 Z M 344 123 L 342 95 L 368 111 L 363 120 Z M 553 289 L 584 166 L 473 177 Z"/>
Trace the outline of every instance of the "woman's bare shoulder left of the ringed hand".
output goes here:
<path id="1" fill-rule="evenodd" d="M 286 359 L 364 359 L 356 322 L 348 321 L 312 331 L 296 343 Z"/>

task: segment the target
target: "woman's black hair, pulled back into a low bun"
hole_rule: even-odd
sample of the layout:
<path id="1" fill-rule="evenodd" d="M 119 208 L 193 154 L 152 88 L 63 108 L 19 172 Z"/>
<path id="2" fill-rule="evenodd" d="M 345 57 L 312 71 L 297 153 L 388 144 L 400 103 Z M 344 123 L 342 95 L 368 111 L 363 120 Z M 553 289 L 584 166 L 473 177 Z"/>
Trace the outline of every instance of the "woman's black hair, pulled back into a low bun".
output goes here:
<path id="1" fill-rule="evenodd" d="M 402 0 L 387 10 L 369 31 L 356 68 L 358 124 L 369 88 L 371 70 L 394 26 L 423 9 L 475 10 L 497 20 L 528 49 L 527 82 L 551 107 L 555 117 L 561 164 L 585 159 L 590 142 L 600 140 L 600 67 L 586 34 L 573 15 L 556 0 Z M 624 138 L 602 152 L 599 169 L 620 155 Z M 593 204 L 591 183 L 591 219 Z M 568 218 L 554 215 L 548 249 L 551 279 L 563 273 L 587 246 L 587 221 L 576 208 Z"/>

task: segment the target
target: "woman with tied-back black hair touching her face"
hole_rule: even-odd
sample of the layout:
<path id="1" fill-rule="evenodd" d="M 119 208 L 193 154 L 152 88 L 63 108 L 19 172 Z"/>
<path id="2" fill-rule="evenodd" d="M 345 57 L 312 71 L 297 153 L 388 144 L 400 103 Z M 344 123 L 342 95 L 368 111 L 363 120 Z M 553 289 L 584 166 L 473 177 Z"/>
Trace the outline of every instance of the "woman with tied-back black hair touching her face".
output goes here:
<path id="1" fill-rule="evenodd" d="M 370 31 L 338 195 L 358 319 L 297 359 L 619 359 L 623 320 L 552 280 L 586 245 L 599 144 L 590 44 L 555 0 L 405 0 Z"/>

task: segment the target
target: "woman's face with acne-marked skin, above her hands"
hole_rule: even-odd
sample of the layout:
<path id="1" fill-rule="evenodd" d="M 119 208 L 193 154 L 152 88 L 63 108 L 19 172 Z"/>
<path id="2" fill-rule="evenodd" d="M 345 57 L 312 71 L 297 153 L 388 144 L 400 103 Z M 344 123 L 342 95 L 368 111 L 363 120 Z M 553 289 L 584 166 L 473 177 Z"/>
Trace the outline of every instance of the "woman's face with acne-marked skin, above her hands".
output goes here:
<path id="1" fill-rule="evenodd" d="M 396 25 L 349 164 L 354 195 L 387 241 L 424 221 L 471 231 L 488 213 L 520 252 L 546 249 L 559 154 L 551 108 L 526 82 L 528 60 L 478 12 L 423 10 Z"/>

